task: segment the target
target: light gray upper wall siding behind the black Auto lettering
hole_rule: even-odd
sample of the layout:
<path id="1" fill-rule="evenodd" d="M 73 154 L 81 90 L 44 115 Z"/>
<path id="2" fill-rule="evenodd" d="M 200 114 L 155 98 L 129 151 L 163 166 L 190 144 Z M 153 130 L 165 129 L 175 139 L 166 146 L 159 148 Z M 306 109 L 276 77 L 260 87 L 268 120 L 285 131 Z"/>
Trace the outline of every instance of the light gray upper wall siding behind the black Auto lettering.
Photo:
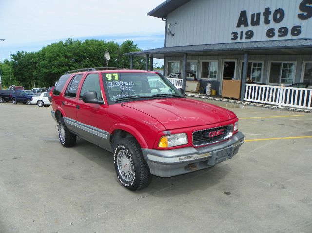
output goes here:
<path id="1" fill-rule="evenodd" d="M 191 0 L 188 3 L 171 12 L 167 17 L 167 26 L 174 36 L 166 34 L 166 47 L 181 45 L 200 45 L 231 43 L 245 41 L 266 41 L 280 39 L 312 38 L 312 18 L 301 20 L 298 14 L 299 4 L 302 0 Z M 270 24 L 264 23 L 263 12 L 270 7 Z M 282 8 L 285 12 L 284 19 L 280 23 L 273 21 L 273 13 Z M 242 10 L 247 11 L 248 27 L 237 28 L 237 22 Z M 260 25 L 251 26 L 251 14 L 261 13 Z M 290 31 L 295 25 L 302 26 L 299 36 L 292 36 Z M 280 27 L 287 27 L 289 33 L 285 37 L 278 37 L 277 31 Z M 268 38 L 266 32 L 274 28 L 276 35 Z M 238 38 L 231 40 L 232 32 L 245 33 L 252 30 L 254 36 L 251 39 Z M 239 34 L 240 35 L 240 34 Z"/>

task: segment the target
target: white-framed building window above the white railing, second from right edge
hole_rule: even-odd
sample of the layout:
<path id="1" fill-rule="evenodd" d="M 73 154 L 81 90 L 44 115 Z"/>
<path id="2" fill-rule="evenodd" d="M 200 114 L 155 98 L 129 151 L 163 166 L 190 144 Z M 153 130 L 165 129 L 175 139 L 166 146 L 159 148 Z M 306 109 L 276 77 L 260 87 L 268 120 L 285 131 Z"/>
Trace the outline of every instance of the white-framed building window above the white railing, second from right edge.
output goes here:
<path id="1" fill-rule="evenodd" d="M 292 84 L 294 69 L 294 62 L 271 62 L 269 83 Z"/>

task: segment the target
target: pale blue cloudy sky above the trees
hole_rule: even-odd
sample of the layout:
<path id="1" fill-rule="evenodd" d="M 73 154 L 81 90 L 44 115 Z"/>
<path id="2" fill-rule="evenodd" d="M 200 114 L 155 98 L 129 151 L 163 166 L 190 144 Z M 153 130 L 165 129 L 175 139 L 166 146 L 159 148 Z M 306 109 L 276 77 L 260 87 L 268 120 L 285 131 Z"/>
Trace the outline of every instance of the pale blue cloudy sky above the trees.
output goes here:
<path id="1" fill-rule="evenodd" d="M 67 38 L 120 44 L 131 39 L 143 50 L 163 47 L 165 22 L 147 13 L 164 1 L 0 0 L 0 39 L 5 39 L 0 61 Z"/>

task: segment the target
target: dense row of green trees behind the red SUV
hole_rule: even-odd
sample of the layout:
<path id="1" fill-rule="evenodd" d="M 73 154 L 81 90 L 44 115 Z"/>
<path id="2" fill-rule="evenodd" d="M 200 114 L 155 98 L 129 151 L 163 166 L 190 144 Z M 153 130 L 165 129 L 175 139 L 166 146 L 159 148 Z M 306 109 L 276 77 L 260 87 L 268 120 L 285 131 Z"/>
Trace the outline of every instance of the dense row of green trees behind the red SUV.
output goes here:
<path id="1" fill-rule="evenodd" d="M 140 50 L 137 44 L 127 40 L 121 45 L 114 41 L 67 39 L 43 47 L 38 52 L 19 51 L 11 54 L 11 68 L 16 85 L 53 86 L 66 71 L 87 67 L 105 67 L 105 51 L 110 53 L 109 67 L 130 68 L 125 53 Z M 135 58 L 134 67 L 145 68 L 144 58 Z"/>

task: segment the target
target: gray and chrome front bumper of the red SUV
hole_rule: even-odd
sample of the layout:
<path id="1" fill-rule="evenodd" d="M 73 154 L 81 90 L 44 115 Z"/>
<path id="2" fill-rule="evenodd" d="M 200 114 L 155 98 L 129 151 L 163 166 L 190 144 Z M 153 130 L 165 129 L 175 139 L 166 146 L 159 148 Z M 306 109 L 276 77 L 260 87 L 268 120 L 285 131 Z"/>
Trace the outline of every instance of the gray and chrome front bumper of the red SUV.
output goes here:
<path id="1" fill-rule="evenodd" d="M 244 134 L 238 132 L 229 140 L 209 146 L 173 150 L 142 148 L 142 152 L 151 174 L 159 177 L 172 177 L 231 159 L 244 143 L 244 137 Z"/>

